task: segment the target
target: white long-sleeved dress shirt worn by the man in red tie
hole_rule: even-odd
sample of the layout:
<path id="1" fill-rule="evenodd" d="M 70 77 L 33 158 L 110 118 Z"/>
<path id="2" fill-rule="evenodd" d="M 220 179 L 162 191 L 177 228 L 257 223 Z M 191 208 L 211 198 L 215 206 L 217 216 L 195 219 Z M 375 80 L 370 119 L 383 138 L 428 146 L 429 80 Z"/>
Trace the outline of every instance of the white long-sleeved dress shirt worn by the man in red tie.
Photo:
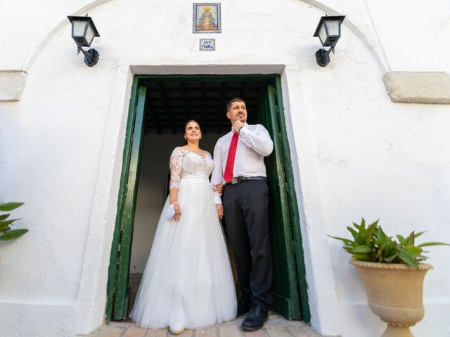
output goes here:
<path id="1" fill-rule="evenodd" d="M 224 171 L 226 159 L 233 137 L 233 129 L 225 136 L 217 140 L 214 147 L 214 169 L 212 170 L 211 183 L 225 184 Z M 261 124 L 249 125 L 240 129 L 236 157 L 234 159 L 233 178 L 236 177 L 266 177 L 264 157 L 269 156 L 274 150 L 269 132 Z M 216 204 L 221 204 L 221 199 L 214 195 Z"/>

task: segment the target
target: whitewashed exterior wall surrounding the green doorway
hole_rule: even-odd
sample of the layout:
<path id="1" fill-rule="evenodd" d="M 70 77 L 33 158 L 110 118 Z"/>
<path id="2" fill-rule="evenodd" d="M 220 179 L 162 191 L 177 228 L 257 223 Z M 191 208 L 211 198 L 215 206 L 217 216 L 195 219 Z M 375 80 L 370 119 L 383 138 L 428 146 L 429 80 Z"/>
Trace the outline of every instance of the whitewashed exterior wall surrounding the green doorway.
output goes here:
<path id="1" fill-rule="evenodd" d="M 0 70 L 27 80 L 20 102 L 0 103 L 0 201 L 25 201 L 15 216 L 30 232 L 0 246 L 0 335 L 73 336 L 103 322 L 133 74 L 278 72 L 311 323 L 379 336 L 349 256 L 326 234 L 346 235 L 364 216 L 392 234 L 427 230 L 424 240 L 450 242 L 449 106 L 392 103 L 382 80 L 387 70 L 450 72 L 448 1 L 422 2 L 223 0 L 222 33 L 211 35 L 192 34 L 192 3 L 181 0 L 3 1 L 1 30 L 16 30 L 0 38 Z M 311 35 L 324 8 L 347 18 L 321 68 Z M 92 68 L 65 18 L 87 10 L 101 34 Z M 201 37 L 217 51 L 199 52 Z M 444 337 L 448 248 L 429 255 L 435 270 L 413 332 Z"/>

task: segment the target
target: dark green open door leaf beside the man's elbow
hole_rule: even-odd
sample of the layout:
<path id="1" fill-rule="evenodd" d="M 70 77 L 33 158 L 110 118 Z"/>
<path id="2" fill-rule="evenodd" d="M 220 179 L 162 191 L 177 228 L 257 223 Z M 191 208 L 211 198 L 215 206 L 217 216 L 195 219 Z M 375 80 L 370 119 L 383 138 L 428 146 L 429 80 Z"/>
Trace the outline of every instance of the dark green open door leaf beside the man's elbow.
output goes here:
<path id="1" fill-rule="evenodd" d="M 276 89 L 268 84 L 259 103 L 259 123 L 266 126 L 272 140 L 274 152 L 266 158 L 269 185 L 269 229 L 274 279 L 272 309 L 287 319 L 302 319 L 299 280 L 295 260 L 295 246 L 285 174 L 285 148 L 283 146 Z"/>

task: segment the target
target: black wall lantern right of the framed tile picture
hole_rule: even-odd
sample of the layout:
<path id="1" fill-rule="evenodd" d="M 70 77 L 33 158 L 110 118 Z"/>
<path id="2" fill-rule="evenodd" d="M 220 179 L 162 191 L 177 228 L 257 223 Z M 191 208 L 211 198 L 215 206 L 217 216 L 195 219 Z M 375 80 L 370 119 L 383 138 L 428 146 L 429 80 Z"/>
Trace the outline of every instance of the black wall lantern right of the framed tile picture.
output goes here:
<path id="1" fill-rule="evenodd" d="M 317 25 L 314 37 L 319 37 L 323 47 L 331 47 L 328 51 L 323 48 L 316 51 L 316 62 L 321 67 L 330 63 L 330 52 L 335 53 L 335 46 L 340 38 L 340 25 L 344 19 L 345 15 L 323 16 Z"/>

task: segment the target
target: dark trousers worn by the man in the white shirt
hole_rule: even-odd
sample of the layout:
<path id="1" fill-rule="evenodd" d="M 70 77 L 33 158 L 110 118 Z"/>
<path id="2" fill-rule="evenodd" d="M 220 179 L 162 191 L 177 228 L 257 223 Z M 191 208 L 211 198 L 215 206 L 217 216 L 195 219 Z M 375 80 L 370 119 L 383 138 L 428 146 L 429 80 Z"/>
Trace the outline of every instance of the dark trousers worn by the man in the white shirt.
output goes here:
<path id="1" fill-rule="evenodd" d="M 264 180 L 226 184 L 222 195 L 226 232 L 243 296 L 269 310 L 272 265 L 269 244 L 269 189 Z"/>

